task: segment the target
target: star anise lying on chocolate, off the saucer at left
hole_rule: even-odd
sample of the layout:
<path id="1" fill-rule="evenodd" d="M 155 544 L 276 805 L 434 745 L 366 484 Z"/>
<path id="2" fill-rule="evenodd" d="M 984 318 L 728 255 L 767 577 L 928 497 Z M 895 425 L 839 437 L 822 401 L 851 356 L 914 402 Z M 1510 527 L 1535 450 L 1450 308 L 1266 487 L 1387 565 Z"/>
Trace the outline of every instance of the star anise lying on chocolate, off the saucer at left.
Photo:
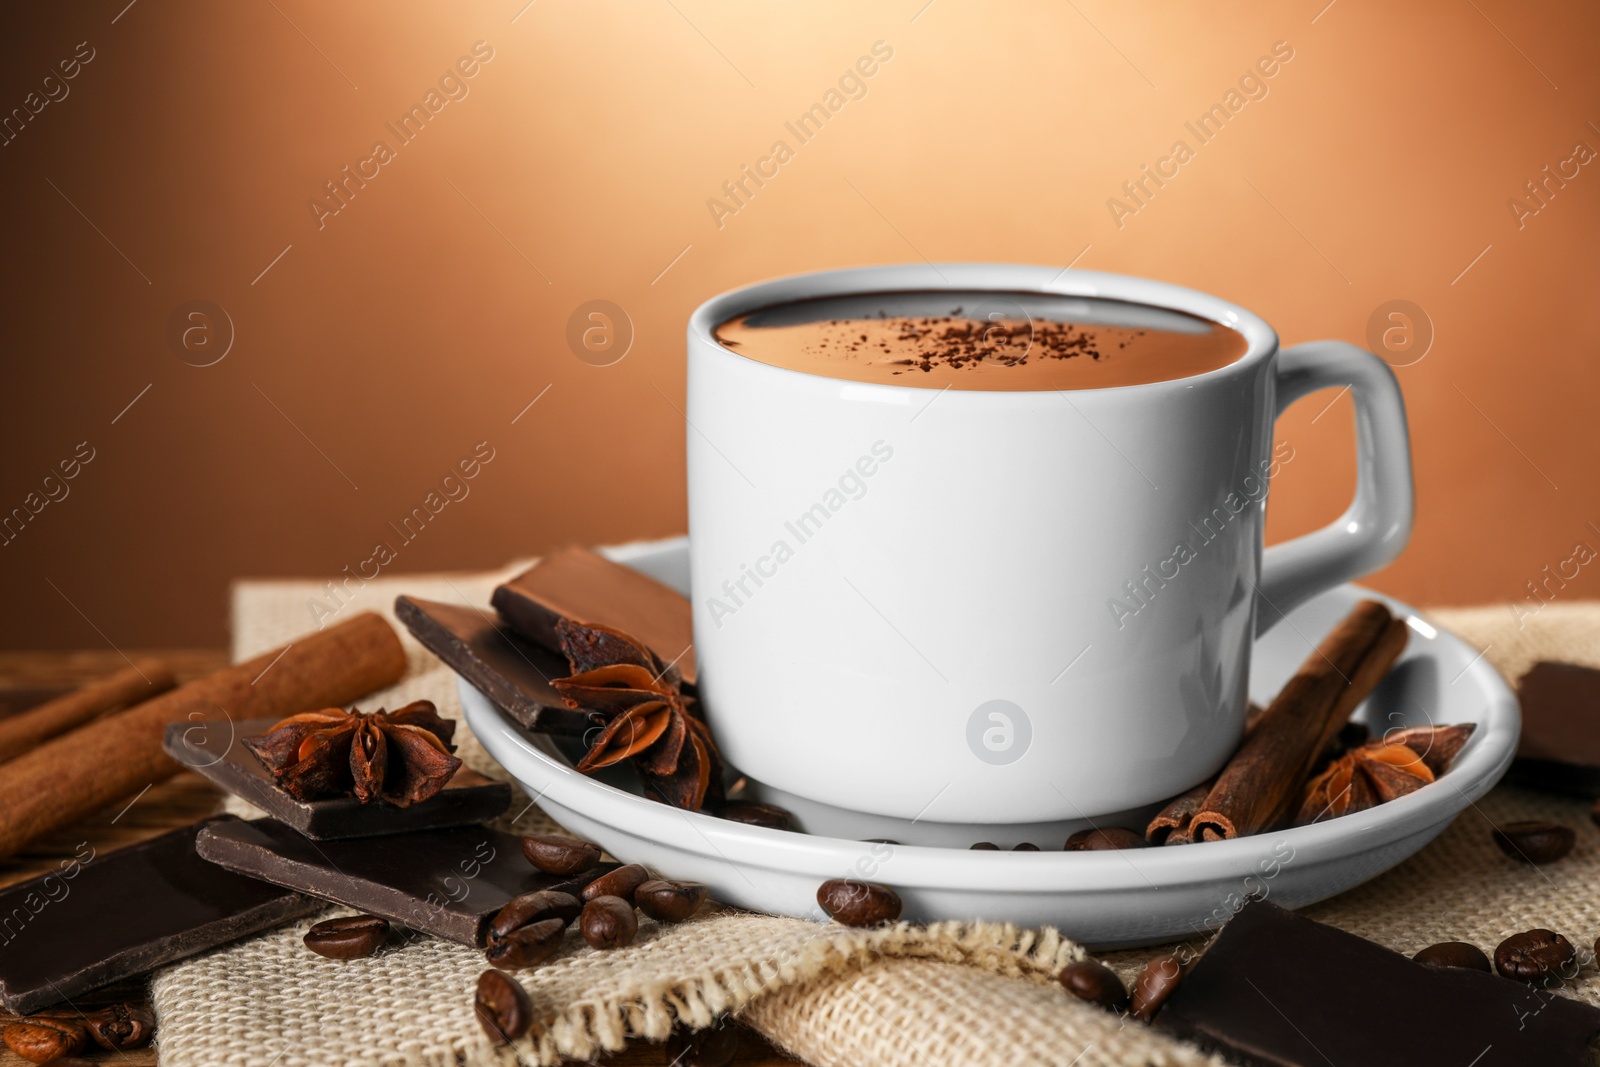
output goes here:
<path id="1" fill-rule="evenodd" d="M 290 715 L 245 747 L 296 800 L 354 792 L 363 805 L 384 800 L 398 808 L 434 797 L 461 769 L 451 755 L 456 723 L 440 718 L 432 701 L 394 712 L 346 712 L 328 707 Z"/>

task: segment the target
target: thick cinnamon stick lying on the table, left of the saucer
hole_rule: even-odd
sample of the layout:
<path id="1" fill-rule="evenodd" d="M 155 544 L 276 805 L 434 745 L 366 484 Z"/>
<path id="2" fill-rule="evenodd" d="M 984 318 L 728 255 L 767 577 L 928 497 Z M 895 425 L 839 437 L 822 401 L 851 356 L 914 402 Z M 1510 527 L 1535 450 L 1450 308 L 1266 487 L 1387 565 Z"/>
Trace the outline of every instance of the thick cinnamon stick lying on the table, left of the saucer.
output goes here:
<path id="1" fill-rule="evenodd" d="M 171 721 L 282 718 L 347 704 L 403 673 L 394 627 L 363 613 L 46 741 L 0 773 L 0 859 L 176 774 L 162 750 Z"/>

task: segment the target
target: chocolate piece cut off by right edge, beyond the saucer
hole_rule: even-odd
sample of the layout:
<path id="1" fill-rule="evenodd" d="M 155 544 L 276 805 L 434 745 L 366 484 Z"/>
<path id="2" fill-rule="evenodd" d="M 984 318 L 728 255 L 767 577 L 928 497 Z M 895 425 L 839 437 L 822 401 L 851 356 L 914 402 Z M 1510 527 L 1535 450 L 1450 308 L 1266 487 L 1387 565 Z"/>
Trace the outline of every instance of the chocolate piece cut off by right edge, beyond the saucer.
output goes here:
<path id="1" fill-rule="evenodd" d="M 1506 781 L 1600 797 L 1600 670 L 1541 661 L 1517 683 L 1522 741 Z"/>

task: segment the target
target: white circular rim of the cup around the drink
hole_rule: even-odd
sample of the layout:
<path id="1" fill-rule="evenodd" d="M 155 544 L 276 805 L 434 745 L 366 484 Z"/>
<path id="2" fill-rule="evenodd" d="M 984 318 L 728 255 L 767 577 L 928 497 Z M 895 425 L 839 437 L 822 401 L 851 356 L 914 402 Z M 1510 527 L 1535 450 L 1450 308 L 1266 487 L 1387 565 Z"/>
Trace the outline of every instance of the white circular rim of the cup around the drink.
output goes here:
<path id="1" fill-rule="evenodd" d="M 794 301 L 814 299 L 824 296 L 843 296 L 850 293 L 894 293 L 894 291 L 990 291 L 990 293 L 1051 293 L 1059 296 L 1086 296 L 1099 299 L 1123 301 L 1128 304 L 1146 304 L 1163 310 L 1184 312 L 1206 322 L 1237 330 L 1245 336 L 1245 354 L 1232 363 L 1189 374 L 1186 378 L 1166 378 L 1154 382 L 1133 386 L 1099 386 L 1075 389 L 1075 394 L 1125 394 L 1128 390 L 1184 389 L 1195 382 L 1213 381 L 1232 374 L 1246 373 L 1262 360 L 1272 358 L 1278 350 L 1278 334 L 1264 318 L 1237 304 L 1224 301 L 1200 290 L 1184 288 L 1170 282 L 1155 282 L 1138 275 L 1109 274 L 1102 270 L 1074 270 L 1070 267 L 1048 267 L 1037 264 L 1000 264 L 1000 262 L 918 262 L 918 264 L 883 264 L 875 267 L 843 267 L 837 270 L 811 270 L 805 274 L 782 275 L 763 282 L 728 290 L 710 298 L 690 315 L 688 339 L 693 350 L 694 342 L 710 346 L 741 363 L 760 366 L 776 374 L 794 374 L 798 379 L 851 386 L 854 389 L 907 390 L 914 394 L 950 392 L 962 397 L 1019 397 L 1048 390 L 1038 389 L 955 389 L 934 386 L 910 386 L 890 382 L 858 382 L 848 378 L 832 378 L 811 371 L 797 371 L 789 366 L 778 366 L 750 358 L 741 352 L 725 349 L 717 342 L 712 331 L 738 315 L 771 307 L 773 304 L 789 304 Z M 978 402 L 981 403 L 981 402 Z"/>

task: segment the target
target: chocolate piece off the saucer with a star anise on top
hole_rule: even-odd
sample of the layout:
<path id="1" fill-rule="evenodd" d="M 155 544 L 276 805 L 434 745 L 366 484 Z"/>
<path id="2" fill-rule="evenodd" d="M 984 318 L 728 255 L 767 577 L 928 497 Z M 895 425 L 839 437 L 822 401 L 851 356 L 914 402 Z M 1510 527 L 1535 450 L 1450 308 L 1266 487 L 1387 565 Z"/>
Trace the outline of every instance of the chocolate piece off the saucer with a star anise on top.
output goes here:
<path id="1" fill-rule="evenodd" d="M 251 718 L 242 723 L 171 723 L 163 747 L 189 769 L 318 841 L 485 822 L 510 806 L 510 785 L 467 768 L 456 771 L 437 797 L 410 808 L 363 805 L 354 793 L 294 800 L 278 789 L 261 760 L 238 744 L 242 737 L 266 733 L 274 721 Z"/>

